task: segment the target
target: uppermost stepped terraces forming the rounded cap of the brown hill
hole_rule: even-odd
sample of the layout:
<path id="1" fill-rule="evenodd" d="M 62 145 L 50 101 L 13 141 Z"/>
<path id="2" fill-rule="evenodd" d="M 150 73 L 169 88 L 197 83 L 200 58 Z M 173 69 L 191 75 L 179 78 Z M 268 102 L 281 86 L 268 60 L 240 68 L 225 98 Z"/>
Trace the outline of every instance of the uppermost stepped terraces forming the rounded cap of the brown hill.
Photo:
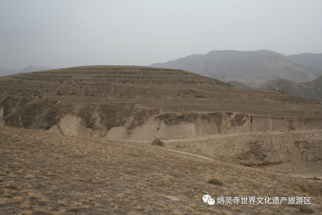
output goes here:
<path id="1" fill-rule="evenodd" d="M 49 82 L 94 82 L 123 84 L 219 84 L 216 79 L 196 75 L 184 70 L 159 69 L 139 66 L 81 66 L 20 73 L 13 76 L 20 80 Z"/>

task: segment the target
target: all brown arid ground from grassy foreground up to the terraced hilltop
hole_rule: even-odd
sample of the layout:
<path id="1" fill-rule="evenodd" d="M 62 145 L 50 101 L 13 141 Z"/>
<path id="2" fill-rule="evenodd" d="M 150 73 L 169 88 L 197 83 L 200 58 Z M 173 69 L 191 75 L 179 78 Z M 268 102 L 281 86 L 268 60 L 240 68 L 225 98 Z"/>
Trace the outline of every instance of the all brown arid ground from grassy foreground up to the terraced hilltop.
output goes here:
<path id="1" fill-rule="evenodd" d="M 0 215 L 322 214 L 321 107 L 183 70 L 0 77 Z M 211 206 L 205 194 L 313 203 Z"/>

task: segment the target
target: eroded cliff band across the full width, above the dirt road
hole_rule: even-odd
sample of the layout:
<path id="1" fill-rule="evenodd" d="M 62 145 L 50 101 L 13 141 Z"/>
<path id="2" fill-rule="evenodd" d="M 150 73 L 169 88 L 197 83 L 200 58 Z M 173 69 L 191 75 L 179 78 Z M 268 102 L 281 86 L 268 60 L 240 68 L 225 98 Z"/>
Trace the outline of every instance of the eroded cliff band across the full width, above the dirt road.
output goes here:
<path id="1" fill-rule="evenodd" d="M 173 139 L 322 129 L 322 119 L 233 112 L 160 114 L 158 109 L 147 110 L 133 103 L 71 104 L 43 98 L 7 98 L 0 108 L 4 125 L 111 139 Z"/>

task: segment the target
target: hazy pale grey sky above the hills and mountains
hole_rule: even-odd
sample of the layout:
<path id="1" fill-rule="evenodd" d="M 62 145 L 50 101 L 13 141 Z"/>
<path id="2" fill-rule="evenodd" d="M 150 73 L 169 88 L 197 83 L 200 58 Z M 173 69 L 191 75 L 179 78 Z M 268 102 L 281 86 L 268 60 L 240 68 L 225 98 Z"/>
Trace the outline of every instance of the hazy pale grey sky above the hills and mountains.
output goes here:
<path id="1" fill-rule="evenodd" d="M 141 65 L 212 50 L 322 53 L 321 0 L 0 0 L 0 67 Z"/>

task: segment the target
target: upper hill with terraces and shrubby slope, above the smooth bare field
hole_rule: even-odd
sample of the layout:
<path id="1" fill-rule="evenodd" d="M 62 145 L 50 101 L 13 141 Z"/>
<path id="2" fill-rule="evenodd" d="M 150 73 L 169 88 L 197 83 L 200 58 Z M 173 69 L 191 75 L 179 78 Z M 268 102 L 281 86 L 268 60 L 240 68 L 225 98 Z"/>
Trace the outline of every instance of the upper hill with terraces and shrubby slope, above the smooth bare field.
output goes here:
<path id="1" fill-rule="evenodd" d="M 73 67 L 20 73 L 2 77 L 0 81 L 2 98 L 77 95 L 96 98 L 244 99 L 239 94 L 247 92 L 231 88 L 223 90 L 222 87 L 232 86 L 192 72 L 137 66 Z M 288 100 L 291 103 L 316 104 L 313 100 L 280 93 L 248 91 L 246 94 L 248 100 Z"/>

